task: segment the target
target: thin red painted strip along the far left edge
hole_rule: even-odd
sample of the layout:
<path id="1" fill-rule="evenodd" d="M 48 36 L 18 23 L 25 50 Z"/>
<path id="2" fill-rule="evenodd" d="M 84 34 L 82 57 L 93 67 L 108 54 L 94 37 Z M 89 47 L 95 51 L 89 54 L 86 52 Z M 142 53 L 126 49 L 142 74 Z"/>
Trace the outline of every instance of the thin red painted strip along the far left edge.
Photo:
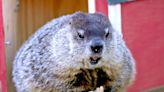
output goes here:
<path id="1" fill-rule="evenodd" d="M 2 0 L 0 0 L 0 92 L 7 92 L 4 33 L 2 22 Z"/>

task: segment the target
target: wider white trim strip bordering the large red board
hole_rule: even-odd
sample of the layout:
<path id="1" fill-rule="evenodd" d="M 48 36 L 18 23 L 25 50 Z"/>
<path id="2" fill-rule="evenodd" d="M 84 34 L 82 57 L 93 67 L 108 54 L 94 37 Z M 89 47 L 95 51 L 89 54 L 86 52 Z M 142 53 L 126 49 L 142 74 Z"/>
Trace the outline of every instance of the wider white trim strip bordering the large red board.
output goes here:
<path id="1" fill-rule="evenodd" d="M 113 28 L 122 36 L 121 4 L 108 5 L 108 17 Z"/>

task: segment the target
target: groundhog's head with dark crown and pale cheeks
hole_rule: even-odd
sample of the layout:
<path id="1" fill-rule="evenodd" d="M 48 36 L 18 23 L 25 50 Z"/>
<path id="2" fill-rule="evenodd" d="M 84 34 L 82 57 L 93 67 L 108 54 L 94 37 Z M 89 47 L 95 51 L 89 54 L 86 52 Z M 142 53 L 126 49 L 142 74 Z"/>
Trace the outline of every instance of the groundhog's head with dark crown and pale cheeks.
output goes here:
<path id="1" fill-rule="evenodd" d="M 70 62 L 76 61 L 73 63 L 94 68 L 112 61 L 115 39 L 111 23 L 106 16 L 100 13 L 77 12 L 71 15 L 70 20 L 71 28 L 67 35 L 68 53 L 74 59 Z"/>

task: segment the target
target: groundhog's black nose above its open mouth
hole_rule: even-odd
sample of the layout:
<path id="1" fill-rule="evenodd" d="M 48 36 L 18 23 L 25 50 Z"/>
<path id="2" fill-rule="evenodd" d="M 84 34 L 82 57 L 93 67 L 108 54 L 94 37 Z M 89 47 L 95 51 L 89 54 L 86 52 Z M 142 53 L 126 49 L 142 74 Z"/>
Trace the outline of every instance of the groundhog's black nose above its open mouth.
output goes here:
<path id="1" fill-rule="evenodd" d="M 101 53 L 103 50 L 103 44 L 101 42 L 95 42 L 91 45 L 91 50 L 93 53 Z"/>

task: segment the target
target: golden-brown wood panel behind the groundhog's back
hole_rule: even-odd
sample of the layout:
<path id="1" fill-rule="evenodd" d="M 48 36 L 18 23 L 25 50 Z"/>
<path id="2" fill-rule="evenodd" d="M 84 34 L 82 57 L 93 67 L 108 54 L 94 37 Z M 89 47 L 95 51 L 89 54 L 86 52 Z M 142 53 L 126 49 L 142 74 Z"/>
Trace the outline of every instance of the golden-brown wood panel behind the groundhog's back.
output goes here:
<path id="1" fill-rule="evenodd" d="M 21 0 L 18 21 L 20 44 L 49 20 L 76 11 L 87 12 L 87 6 L 87 0 Z"/>

